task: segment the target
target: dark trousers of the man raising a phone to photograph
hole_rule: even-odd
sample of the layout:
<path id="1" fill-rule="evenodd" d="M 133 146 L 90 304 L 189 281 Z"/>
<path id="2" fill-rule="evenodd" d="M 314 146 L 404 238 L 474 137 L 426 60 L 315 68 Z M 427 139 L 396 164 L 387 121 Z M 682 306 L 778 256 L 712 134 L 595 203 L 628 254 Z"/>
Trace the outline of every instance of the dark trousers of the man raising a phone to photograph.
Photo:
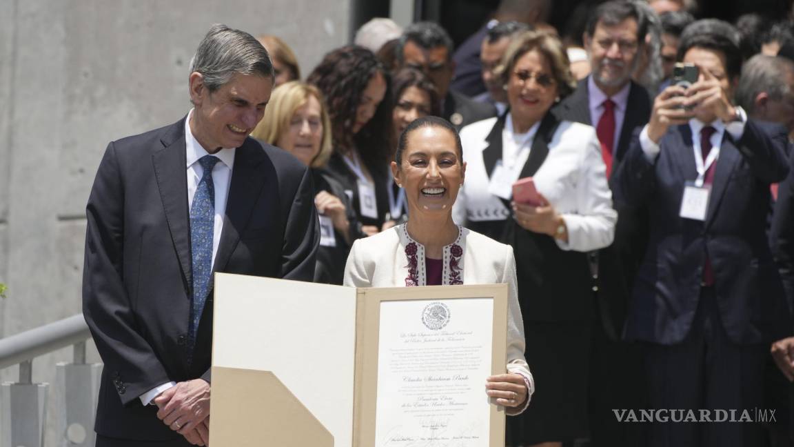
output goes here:
<path id="1" fill-rule="evenodd" d="M 680 344 L 649 344 L 646 374 L 653 409 L 742 410 L 754 417 L 763 405 L 765 344 L 741 346 L 727 337 L 714 290 L 700 293 L 695 320 Z M 762 428 L 757 422 L 653 422 L 649 445 L 669 447 L 756 447 Z"/>

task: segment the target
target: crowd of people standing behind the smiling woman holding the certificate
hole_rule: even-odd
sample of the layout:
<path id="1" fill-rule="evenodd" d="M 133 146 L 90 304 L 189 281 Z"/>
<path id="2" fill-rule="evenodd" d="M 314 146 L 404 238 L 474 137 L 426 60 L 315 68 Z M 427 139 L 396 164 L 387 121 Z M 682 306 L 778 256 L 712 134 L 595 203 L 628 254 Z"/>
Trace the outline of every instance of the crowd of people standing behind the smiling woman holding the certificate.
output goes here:
<path id="1" fill-rule="evenodd" d="M 509 445 L 790 439 L 781 421 L 768 433 L 638 430 L 612 410 L 762 408 L 764 379 L 767 395 L 777 383 L 772 394 L 788 396 L 794 344 L 782 340 L 773 357 L 769 343 L 792 332 L 782 318 L 792 301 L 792 22 L 747 14 L 731 25 L 695 20 L 685 2 L 607 2 L 583 6 L 580 36 L 561 39 L 542 10 L 519 3 L 503 2 L 457 52 L 435 23 L 374 19 L 306 79 L 330 127 L 301 121 L 306 101 L 268 110 L 253 136 L 296 155 L 273 127 L 314 135 L 317 158 L 333 135 L 315 189 L 323 234 L 335 235 L 321 242 L 317 271 L 337 271 L 315 278 L 341 283 L 352 241 L 407 220 L 388 164 L 410 122 L 440 116 L 460 131 L 467 164 L 455 222 L 515 252 L 526 360 L 542 386 L 508 422 Z M 688 88 L 676 62 L 698 69 Z M 512 200 L 525 177 L 542 203 Z M 686 214 L 684 195 L 703 191 L 702 216 Z"/>

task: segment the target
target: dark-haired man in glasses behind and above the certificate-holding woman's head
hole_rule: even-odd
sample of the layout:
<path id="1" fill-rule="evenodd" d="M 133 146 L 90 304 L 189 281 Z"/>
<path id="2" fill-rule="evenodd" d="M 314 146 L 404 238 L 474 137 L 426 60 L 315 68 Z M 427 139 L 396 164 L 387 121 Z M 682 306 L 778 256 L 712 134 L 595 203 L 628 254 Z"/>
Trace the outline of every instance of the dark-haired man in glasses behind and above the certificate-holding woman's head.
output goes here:
<path id="1" fill-rule="evenodd" d="M 455 72 L 452 52 L 452 39 L 441 26 L 431 21 L 420 21 L 409 25 L 399 38 L 397 65 L 425 72 L 441 98 L 441 118 L 461 130 L 467 124 L 491 118 L 496 115 L 496 109 L 491 104 L 478 103 L 449 89 Z"/>

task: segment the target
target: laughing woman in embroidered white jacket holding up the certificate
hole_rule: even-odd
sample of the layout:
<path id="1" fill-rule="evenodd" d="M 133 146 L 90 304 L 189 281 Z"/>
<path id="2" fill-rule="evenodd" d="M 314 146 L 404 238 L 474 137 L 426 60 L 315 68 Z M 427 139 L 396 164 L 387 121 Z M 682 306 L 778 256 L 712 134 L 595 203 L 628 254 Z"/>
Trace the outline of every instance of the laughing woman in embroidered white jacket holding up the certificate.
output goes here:
<path id="1" fill-rule="evenodd" d="M 534 382 L 524 359 L 521 309 L 511 247 L 456 225 L 452 207 L 464 182 L 461 138 L 434 116 L 416 119 L 400 135 L 391 162 L 406 192 L 408 220 L 353 243 L 345 286 L 402 287 L 508 285 L 506 373 L 488 377 L 484 393 L 518 414 L 529 405 Z"/>

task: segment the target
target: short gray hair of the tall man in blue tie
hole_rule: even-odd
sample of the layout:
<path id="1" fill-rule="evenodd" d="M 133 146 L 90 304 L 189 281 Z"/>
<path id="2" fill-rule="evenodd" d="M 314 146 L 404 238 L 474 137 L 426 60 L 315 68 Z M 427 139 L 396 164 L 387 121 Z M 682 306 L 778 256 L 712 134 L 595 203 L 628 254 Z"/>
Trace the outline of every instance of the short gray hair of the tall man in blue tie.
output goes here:
<path id="1" fill-rule="evenodd" d="M 209 91 L 216 91 L 237 73 L 274 79 L 273 63 L 259 41 L 245 31 L 212 25 L 191 59 L 191 73 L 204 78 Z"/>

